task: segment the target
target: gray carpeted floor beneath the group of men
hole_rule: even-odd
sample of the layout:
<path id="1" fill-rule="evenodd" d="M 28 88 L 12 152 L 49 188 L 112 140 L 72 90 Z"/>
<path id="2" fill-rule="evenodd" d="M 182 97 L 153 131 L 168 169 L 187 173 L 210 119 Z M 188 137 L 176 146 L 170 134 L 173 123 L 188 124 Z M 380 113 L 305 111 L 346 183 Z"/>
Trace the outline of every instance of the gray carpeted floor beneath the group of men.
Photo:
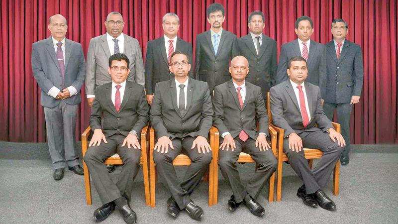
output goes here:
<path id="1" fill-rule="evenodd" d="M 201 183 L 192 195 L 204 210 L 201 223 L 398 223 L 398 145 L 356 145 L 353 152 L 351 163 L 341 167 L 340 195 L 332 195 L 331 179 L 324 189 L 337 205 L 335 212 L 304 206 L 296 196 L 301 182 L 293 169 L 284 164 L 282 202 L 269 204 L 265 198 L 267 190 L 258 199 L 266 209 L 264 218 L 251 215 L 244 206 L 233 214 L 228 212 L 226 201 L 231 190 L 220 172 L 217 205 L 207 205 L 208 185 Z M 240 165 L 239 169 L 247 181 L 254 165 Z M 64 179 L 54 181 L 46 144 L 0 142 L 0 170 L 1 224 L 95 223 L 92 215 L 101 205 L 94 186 L 93 205 L 87 206 L 83 176 L 65 171 Z M 177 172 L 182 175 L 184 167 Z M 112 176 L 117 173 L 118 170 Z M 161 181 L 156 185 L 156 207 L 151 208 L 145 206 L 142 169 L 137 175 L 131 207 L 138 223 L 198 223 L 185 212 L 177 220 L 166 214 L 169 194 Z M 123 220 L 116 211 L 102 223 Z"/>

